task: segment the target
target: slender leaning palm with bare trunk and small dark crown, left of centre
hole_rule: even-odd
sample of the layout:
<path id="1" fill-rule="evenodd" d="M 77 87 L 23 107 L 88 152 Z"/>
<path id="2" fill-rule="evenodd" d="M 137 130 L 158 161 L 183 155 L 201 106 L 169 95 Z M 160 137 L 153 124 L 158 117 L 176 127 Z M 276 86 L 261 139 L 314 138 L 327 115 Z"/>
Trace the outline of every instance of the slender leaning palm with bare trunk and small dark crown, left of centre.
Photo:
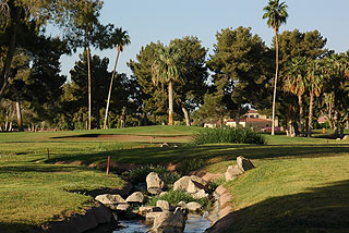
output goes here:
<path id="1" fill-rule="evenodd" d="M 127 30 L 122 30 L 122 28 L 117 28 L 116 32 L 111 35 L 111 41 L 116 48 L 117 48 L 117 59 L 116 64 L 112 70 L 111 79 L 110 79 L 110 86 L 109 86 L 109 93 L 108 93 L 108 100 L 107 100 L 107 107 L 106 107 L 106 115 L 105 115 L 105 123 L 103 128 L 107 128 L 107 120 L 108 120 L 108 110 L 109 110 L 109 103 L 110 103 L 110 96 L 111 96 L 111 89 L 112 89 L 112 83 L 113 78 L 116 76 L 117 65 L 119 61 L 120 52 L 123 52 L 123 47 L 127 45 L 130 45 L 130 36 L 128 35 Z"/>

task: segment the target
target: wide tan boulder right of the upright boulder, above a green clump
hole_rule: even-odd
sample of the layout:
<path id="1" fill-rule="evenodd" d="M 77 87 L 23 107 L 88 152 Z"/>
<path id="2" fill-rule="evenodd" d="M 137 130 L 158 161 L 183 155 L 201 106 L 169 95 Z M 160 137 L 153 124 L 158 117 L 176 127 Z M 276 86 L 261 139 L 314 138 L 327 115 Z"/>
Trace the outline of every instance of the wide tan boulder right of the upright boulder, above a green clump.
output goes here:
<path id="1" fill-rule="evenodd" d="M 173 191 L 186 191 L 189 193 L 196 193 L 201 189 L 207 191 L 207 182 L 196 175 L 183 176 L 174 182 Z"/>

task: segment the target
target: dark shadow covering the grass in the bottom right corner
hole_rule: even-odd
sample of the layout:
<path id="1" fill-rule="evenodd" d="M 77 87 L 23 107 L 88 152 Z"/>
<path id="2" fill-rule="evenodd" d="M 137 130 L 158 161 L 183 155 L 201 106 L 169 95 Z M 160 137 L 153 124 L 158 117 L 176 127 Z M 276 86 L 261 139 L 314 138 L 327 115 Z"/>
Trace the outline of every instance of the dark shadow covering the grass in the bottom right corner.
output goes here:
<path id="1" fill-rule="evenodd" d="M 218 232 L 349 232 L 349 181 L 305 193 L 268 198 L 237 210 Z"/>

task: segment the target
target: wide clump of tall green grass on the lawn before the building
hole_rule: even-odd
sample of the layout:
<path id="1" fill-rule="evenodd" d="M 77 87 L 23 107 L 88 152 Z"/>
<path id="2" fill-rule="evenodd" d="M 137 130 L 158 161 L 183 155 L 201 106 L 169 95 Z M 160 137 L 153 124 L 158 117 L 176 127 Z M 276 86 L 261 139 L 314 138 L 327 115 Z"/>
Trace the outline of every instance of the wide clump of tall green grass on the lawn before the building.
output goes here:
<path id="1" fill-rule="evenodd" d="M 251 128 L 205 128 L 194 136 L 195 145 L 203 144 L 257 144 L 265 145 L 265 137 Z"/>

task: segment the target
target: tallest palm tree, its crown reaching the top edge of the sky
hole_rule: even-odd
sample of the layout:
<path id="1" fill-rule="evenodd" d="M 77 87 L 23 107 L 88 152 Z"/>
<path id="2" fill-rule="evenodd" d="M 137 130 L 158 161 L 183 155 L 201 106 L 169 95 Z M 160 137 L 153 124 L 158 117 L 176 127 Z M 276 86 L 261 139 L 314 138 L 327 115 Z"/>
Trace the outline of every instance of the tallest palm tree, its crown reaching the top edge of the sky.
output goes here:
<path id="1" fill-rule="evenodd" d="M 278 34 L 281 24 L 286 23 L 288 13 L 286 9 L 288 5 L 285 2 L 279 3 L 279 0 L 269 0 L 267 7 L 263 9 L 265 13 L 263 14 L 263 20 L 267 19 L 268 27 L 272 27 L 275 34 L 275 46 L 276 46 L 276 69 L 274 78 L 274 95 L 273 95 L 273 122 L 272 122 L 272 135 L 275 134 L 275 101 L 276 101 L 276 85 L 277 75 L 279 71 L 279 45 L 278 45 Z"/>

